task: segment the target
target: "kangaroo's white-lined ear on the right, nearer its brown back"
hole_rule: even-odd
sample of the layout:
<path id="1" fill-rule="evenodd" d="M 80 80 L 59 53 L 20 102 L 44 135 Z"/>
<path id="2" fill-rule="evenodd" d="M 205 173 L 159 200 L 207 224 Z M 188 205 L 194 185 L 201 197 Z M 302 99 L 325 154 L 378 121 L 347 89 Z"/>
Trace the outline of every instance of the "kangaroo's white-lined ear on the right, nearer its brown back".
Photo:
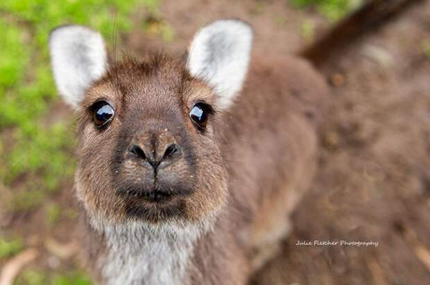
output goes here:
<path id="1" fill-rule="evenodd" d="M 192 76 L 214 88 L 221 109 L 230 107 L 242 88 L 251 46 L 252 28 L 238 20 L 214 21 L 194 36 L 187 67 Z"/>

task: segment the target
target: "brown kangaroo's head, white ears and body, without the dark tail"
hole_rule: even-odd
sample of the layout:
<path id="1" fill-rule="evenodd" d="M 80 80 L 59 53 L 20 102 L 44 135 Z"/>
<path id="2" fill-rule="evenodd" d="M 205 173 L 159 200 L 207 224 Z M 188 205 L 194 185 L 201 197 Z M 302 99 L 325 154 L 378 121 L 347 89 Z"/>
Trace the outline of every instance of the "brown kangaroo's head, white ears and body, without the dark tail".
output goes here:
<path id="1" fill-rule="evenodd" d="M 112 62 L 94 30 L 51 32 L 55 83 L 78 116 L 74 191 L 99 284 L 246 284 L 288 234 L 329 89 L 306 59 L 251 60 L 252 38 L 221 19 L 183 59 Z"/>

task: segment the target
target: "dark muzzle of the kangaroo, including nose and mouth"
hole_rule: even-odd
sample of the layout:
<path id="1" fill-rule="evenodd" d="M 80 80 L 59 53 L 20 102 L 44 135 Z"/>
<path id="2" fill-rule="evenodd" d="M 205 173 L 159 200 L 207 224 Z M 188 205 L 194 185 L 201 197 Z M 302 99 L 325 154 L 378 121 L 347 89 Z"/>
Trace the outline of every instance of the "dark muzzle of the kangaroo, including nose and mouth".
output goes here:
<path id="1" fill-rule="evenodd" d="M 117 194 L 128 199 L 132 213 L 146 202 L 172 204 L 175 198 L 191 194 L 191 185 L 183 182 L 193 175 L 184 157 L 187 147 L 180 147 L 183 140 L 169 129 L 160 129 L 152 126 L 136 131 L 124 141 L 122 158 L 116 163 Z"/>

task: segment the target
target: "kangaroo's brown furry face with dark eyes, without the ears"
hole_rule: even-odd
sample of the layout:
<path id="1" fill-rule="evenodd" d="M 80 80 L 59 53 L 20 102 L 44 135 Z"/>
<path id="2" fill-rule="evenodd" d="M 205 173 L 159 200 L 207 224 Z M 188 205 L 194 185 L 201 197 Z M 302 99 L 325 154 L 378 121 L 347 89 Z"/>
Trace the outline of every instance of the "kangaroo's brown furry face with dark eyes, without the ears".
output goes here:
<path id="1" fill-rule="evenodd" d="M 214 94 L 171 59 L 126 62 L 80 104 L 78 187 L 105 217 L 197 220 L 225 201 Z"/>

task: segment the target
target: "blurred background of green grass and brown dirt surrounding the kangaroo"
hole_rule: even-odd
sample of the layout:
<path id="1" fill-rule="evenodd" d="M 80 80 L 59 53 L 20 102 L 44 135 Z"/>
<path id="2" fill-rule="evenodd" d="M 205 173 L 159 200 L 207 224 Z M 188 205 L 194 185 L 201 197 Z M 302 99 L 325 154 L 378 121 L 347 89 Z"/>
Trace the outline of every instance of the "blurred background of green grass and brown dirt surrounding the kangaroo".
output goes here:
<path id="1" fill-rule="evenodd" d="M 238 17 L 255 28 L 255 54 L 289 54 L 363 2 L 1 0 L 0 284 L 91 284 L 74 239 L 75 118 L 53 84 L 52 28 L 83 24 L 109 50 L 116 33 L 124 53 L 180 56 L 198 27 Z M 322 70 L 332 101 L 320 171 L 256 283 L 430 284 L 429 2 Z M 379 245 L 295 246 L 314 239 Z"/>

